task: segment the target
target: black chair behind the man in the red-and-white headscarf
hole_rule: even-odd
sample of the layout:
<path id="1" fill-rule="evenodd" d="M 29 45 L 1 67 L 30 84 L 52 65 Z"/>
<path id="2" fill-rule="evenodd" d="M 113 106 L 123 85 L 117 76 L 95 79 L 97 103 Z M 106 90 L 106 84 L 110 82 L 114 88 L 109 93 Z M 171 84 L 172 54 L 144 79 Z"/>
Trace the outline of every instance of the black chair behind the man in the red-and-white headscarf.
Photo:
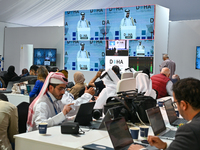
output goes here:
<path id="1" fill-rule="evenodd" d="M 22 102 L 17 106 L 18 109 L 18 129 L 19 133 L 26 132 L 26 122 L 28 118 L 29 103 Z"/>

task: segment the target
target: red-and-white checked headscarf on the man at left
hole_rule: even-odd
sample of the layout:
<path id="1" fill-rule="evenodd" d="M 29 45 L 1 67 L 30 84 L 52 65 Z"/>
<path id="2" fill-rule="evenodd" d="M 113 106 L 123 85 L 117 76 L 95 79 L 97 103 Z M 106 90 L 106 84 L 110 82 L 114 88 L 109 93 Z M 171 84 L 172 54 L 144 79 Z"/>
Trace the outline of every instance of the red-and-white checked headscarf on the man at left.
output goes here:
<path id="1" fill-rule="evenodd" d="M 27 120 L 28 131 L 32 131 L 32 128 L 33 128 L 33 125 L 34 125 L 33 115 L 34 115 L 34 112 L 35 112 L 35 109 L 36 109 L 36 105 L 40 102 L 40 98 L 44 94 L 46 94 L 46 92 L 48 90 L 47 87 L 48 87 L 49 83 L 52 83 L 52 84 L 67 84 L 67 79 L 65 78 L 63 73 L 60 73 L 60 72 L 50 72 L 48 74 L 39 95 L 34 99 L 34 101 L 29 106 L 28 120 Z"/>

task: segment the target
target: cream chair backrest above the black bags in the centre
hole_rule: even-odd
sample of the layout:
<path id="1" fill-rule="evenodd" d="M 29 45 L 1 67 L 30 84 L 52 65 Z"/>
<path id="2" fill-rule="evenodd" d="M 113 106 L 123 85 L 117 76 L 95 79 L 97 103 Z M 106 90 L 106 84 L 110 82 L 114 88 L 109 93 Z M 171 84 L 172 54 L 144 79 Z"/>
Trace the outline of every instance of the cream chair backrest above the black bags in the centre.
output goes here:
<path id="1" fill-rule="evenodd" d="M 117 92 L 135 90 L 135 87 L 135 78 L 122 79 L 117 83 Z"/>

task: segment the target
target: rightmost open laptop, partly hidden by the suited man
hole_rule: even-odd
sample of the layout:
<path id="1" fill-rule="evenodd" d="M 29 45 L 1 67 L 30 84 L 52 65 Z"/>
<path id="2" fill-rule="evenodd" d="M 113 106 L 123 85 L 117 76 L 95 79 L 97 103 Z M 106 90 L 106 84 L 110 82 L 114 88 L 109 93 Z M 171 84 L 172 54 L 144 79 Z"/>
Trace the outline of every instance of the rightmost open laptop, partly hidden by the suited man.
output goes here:
<path id="1" fill-rule="evenodd" d="M 174 106 L 172 105 L 171 98 L 164 101 L 164 105 L 165 105 L 165 110 L 167 112 L 170 125 L 178 126 L 180 123 L 183 123 L 183 124 L 187 123 L 187 120 L 177 117 Z"/>

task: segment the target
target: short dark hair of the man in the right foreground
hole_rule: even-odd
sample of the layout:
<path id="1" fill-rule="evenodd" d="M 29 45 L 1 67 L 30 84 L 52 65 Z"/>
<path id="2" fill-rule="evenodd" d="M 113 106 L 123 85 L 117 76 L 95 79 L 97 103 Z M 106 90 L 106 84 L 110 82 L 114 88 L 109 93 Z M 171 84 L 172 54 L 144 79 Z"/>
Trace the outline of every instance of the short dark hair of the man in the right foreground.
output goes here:
<path id="1" fill-rule="evenodd" d="M 173 85 L 173 92 L 178 103 L 188 102 L 193 109 L 200 109 L 200 80 L 185 78 Z"/>

